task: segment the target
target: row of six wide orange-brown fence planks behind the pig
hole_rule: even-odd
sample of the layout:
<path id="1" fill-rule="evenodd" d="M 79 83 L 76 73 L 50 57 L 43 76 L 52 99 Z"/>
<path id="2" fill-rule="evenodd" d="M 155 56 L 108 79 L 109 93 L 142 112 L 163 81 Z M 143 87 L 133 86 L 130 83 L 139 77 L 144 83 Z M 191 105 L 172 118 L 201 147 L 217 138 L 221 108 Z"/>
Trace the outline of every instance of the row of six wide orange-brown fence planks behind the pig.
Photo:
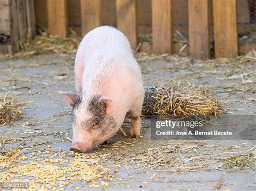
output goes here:
<path id="1" fill-rule="evenodd" d="M 46 19 L 49 33 L 67 37 L 69 25 L 68 1 L 70 0 L 41 1 L 46 2 Z M 116 26 L 129 38 L 133 49 L 138 46 L 138 1 L 140 0 L 114 1 L 116 6 Z M 150 1 L 153 53 L 172 54 L 175 52 L 173 46 L 174 1 Z M 35 3 L 38 2 L 38 0 L 35 0 Z M 90 30 L 104 24 L 102 19 L 103 0 L 79 0 L 79 4 L 80 29 L 81 34 L 84 36 Z M 37 15 L 37 12 L 42 11 L 43 8 L 41 5 L 36 7 L 38 7 L 38 10 L 36 10 Z M 205 60 L 211 56 L 210 29 L 212 29 L 212 26 L 210 19 L 213 20 L 215 57 L 232 58 L 238 55 L 237 0 L 188 0 L 187 13 L 188 52 L 192 58 Z M 256 30 L 256 25 L 254 26 Z"/>

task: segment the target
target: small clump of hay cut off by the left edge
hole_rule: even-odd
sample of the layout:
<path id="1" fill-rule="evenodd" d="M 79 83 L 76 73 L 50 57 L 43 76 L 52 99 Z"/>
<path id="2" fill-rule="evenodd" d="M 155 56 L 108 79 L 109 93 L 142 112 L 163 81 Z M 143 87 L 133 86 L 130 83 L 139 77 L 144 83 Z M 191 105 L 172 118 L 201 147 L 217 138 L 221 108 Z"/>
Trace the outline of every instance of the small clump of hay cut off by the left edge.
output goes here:
<path id="1" fill-rule="evenodd" d="M 21 103 L 15 102 L 14 96 L 6 94 L 1 97 L 0 95 L 0 125 L 22 118 L 22 112 L 18 109 L 21 105 Z"/>

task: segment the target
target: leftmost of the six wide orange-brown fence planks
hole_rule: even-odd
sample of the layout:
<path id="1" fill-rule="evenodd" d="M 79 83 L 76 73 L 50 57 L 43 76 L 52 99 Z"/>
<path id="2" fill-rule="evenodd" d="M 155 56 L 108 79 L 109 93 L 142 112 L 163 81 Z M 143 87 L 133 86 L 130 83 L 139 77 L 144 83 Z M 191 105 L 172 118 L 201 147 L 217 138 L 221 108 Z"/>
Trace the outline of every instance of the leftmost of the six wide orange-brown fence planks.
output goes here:
<path id="1" fill-rule="evenodd" d="M 48 32 L 60 37 L 68 36 L 68 8 L 66 0 L 47 0 Z"/>

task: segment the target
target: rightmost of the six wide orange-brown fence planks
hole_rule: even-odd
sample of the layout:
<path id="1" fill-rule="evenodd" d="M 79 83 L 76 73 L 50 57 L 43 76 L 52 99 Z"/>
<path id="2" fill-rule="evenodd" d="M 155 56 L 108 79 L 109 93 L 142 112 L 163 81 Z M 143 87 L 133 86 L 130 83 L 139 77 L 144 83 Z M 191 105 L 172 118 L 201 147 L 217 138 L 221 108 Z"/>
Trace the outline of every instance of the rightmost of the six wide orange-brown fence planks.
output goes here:
<path id="1" fill-rule="evenodd" d="M 213 0 L 213 24 L 215 57 L 237 56 L 236 0 Z"/>

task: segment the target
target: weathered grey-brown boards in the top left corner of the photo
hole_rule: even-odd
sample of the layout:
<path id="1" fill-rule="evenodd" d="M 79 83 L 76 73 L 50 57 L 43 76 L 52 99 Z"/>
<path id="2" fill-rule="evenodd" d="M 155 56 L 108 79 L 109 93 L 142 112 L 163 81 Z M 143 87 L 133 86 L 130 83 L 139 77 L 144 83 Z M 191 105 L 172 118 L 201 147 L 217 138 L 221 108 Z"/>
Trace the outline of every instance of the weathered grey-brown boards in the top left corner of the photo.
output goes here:
<path id="1" fill-rule="evenodd" d="M 0 54 L 14 54 L 36 36 L 33 0 L 0 0 Z"/>

